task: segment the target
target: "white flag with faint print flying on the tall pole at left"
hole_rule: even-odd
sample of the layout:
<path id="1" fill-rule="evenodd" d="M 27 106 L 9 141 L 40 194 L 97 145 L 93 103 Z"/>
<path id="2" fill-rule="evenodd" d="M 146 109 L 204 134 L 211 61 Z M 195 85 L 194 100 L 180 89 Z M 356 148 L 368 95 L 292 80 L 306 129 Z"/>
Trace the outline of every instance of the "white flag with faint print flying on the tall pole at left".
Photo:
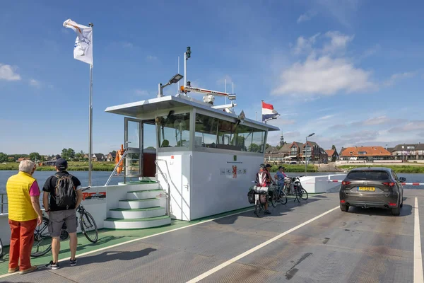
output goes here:
<path id="1" fill-rule="evenodd" d="M 70 18 L 64 21 L 65 28 L 76 32 L 73 58 L 93 65 L 93 28 L 75 23 Z"/>

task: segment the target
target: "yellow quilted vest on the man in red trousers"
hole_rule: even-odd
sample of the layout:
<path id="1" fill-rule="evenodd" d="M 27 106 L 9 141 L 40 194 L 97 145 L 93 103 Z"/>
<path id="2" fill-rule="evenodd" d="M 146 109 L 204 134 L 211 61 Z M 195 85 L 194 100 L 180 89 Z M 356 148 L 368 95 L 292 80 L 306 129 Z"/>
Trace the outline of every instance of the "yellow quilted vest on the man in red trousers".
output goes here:
<path id="1" fill-rule="evenodd" d="M 8 218 L 14 221 L 37 219 L 37 213 L 31 204 L 30 188 L 35 178 L 28 173 L 19 172 L 8 178 L 6 183 Z"/>

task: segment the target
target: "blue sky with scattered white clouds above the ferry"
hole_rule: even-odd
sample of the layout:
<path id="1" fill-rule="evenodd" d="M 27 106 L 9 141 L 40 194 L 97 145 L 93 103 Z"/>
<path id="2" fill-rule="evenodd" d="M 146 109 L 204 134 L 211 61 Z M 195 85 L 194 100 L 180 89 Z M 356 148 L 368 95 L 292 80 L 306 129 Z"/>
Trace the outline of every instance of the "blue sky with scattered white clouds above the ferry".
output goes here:
<path id="1" fill-rule="evenodd" d="M 94 23 L 96 153 L 123 142 L 124 118 L 105 108 L 154 97 L 187 46 L 193 85 L 223 91 L 227 78 L 236 112 L 253 119 L 262 99 L 273 104 L 281 117 L 270 124 L 285 141 L 311 132 L 325 149 L 424 140 L 423 1 L 99 3 L 1 2 L 0 151 L 88 152 L 89 67 L 73 59 L 68 18 Z"/>

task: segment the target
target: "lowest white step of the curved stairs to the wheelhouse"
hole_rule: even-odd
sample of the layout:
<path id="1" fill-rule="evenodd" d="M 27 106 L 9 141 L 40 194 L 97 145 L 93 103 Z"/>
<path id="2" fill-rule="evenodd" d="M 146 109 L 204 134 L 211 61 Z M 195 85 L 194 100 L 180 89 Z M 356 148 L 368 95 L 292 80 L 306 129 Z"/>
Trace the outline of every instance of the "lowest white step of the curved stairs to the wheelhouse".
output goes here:
<path id="1" fill-rule="evenodd" d="M 144 229 L 170 224 L 171 218 L 167 215 L 140 219 L 107 218 L 104 221 L 104 226 L 108 229 Z"/>

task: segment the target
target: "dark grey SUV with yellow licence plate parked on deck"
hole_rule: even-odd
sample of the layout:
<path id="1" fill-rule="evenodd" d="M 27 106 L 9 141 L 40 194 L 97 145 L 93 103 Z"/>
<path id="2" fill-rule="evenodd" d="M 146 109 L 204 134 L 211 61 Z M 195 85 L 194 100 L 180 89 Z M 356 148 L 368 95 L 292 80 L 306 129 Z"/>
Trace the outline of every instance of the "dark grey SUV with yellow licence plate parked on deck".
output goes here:
<path id="1" fill-rule="evenodd" d="M 340 187 L 340 209 L 381 207 L 399 215 L 404 204 L 404 183 L 390 168 L 366 167 L 349 171 Z"/>

